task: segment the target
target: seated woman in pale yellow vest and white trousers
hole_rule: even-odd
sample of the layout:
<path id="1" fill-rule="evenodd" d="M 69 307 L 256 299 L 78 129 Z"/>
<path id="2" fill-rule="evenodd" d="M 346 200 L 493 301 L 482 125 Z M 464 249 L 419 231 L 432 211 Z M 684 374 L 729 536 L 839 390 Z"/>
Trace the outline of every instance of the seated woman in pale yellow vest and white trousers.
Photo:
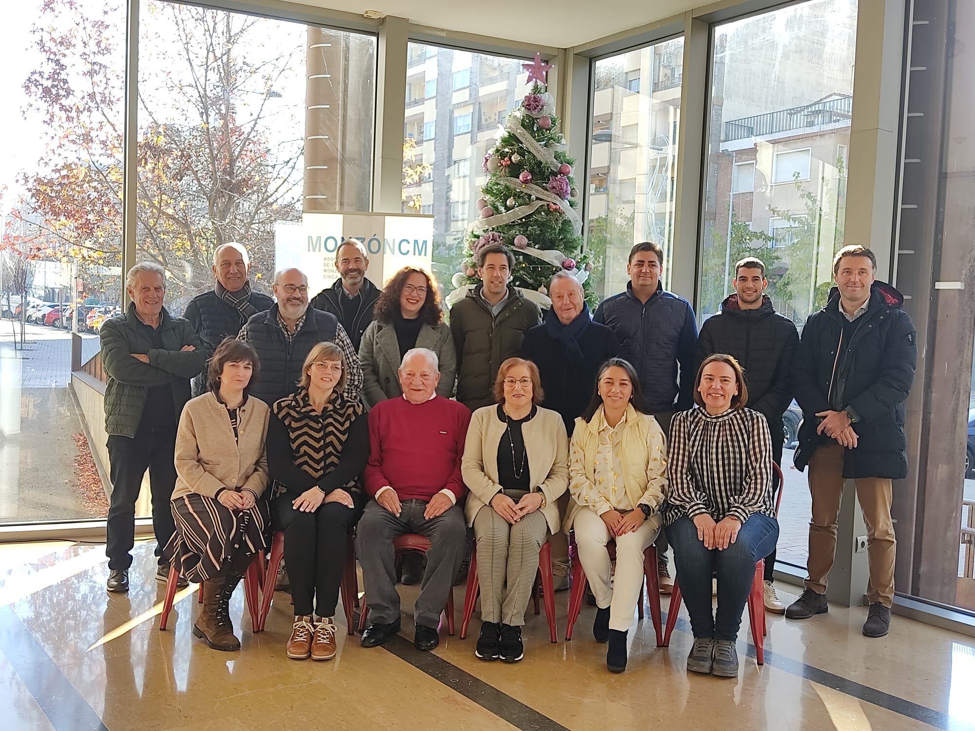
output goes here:
<path id="1" fill-rule="evenodd" d="M 593 635 L 609 642 L 606 668 L 626 670 L 626 635 L 643 589 L 643 552 L 660 532 L 658 513 L 667 494 L 667 441 L 643 406 L 633 365 L 611 358 L 596 376 L 596 393 L 575 420 L 569 445 L 563 529 L 575 529 L 579 560 L 596 597 Z M 610 589 L 606 544 L 616 542 Z"/>

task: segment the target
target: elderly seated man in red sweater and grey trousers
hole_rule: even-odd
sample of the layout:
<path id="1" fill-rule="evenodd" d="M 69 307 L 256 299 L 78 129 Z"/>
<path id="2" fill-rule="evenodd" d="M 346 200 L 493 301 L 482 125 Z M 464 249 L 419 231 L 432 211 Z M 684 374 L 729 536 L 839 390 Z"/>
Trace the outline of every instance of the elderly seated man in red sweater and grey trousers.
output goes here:
<path id="1" fill-rule="evenodd" d="M 400 631 L 393 539 L 419 533 L 430 540 L 413 619 L 418 650 L 440 642 L 437 626 L 453 577 L 464 558 L 467 526 L 457 502 L 464 494 L 460 458 L 471 412 L 437 396 L 437 354 L 414 348 L 399 369 L 402 399 L 370 411 L 366 490 L 374 498 L 359 521 L 357 553 L 369 598 L 371 624 L 363 647 L 376 647 Z"/>

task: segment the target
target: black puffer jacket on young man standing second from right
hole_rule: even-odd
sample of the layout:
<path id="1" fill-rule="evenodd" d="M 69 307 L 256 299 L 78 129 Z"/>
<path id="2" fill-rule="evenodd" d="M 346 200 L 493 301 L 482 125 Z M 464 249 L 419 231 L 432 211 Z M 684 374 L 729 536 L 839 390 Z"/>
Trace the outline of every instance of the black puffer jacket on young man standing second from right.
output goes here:
<path id="1" fill-rule="evenodd" d="M 772 442 L 784 437 L 782 414 L 792 401 L 792 368 L 799 332 L 792 320 L 779 315 L 762 295 L 757 310 L 738 307 L 738 295 L 722 302 L 722 311 L 704 321 L 694 350 L 694 377 L 704 359 L 715 353 L 734 356 L 745 369 L 748 407 L 768 422 Z"/>

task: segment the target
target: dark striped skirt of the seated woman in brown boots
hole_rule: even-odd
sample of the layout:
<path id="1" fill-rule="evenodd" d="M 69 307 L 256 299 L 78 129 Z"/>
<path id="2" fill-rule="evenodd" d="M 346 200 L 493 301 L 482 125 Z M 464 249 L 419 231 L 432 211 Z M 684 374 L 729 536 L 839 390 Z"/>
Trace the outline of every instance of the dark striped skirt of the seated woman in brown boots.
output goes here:
<path id="1" fill-rule="evenodd" d="M 241 552 L 254 556 L 267 548 L 268 503 L 258 498 L 251 510 L 232 511 L 212 497 L 190 493 L 173 501 L 176 532 L 164 551 L 187 581 L 219 575 Z"/>

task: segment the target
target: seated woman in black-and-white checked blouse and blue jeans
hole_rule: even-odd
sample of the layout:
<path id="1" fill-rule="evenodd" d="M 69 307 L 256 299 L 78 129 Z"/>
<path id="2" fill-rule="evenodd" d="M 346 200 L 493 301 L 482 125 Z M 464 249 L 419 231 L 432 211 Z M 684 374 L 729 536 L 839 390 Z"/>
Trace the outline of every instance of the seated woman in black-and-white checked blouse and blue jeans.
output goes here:
<path id="1" fill-rule="evenodd" d="M 734 358 L 716 353 L 697 371 L 694 403 L 675 415 L 667 452 L 667 540 L 690 615 L 687 670 L 738 676 L 735 639 L 755 564 L 775 548 L 772 440 L 765 417 L 745 408 L 748 389 Z M 718 612 L 711 577 L 718 577 Z"/>

